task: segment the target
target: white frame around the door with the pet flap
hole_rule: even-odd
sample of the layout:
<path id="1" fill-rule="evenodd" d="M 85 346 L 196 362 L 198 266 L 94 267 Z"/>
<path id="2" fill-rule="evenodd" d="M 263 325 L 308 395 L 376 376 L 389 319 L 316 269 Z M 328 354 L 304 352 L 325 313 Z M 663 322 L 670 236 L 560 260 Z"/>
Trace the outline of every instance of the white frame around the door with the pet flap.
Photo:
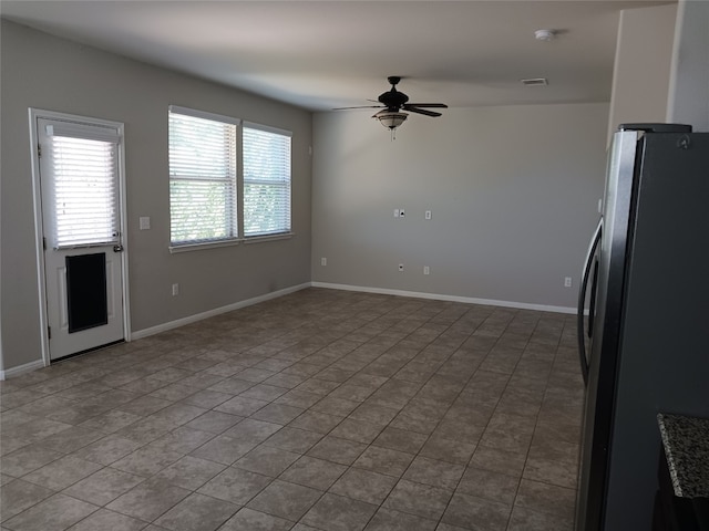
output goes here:
<path id="1" fill-rule="evenodd" d="M 115 127 L 121 134 L 121 143 L 119 144 L 119 192 L 121 200 L 119 201 L 119 228 L 122 233 L 122 240 L 124 250 L 121 252 L 121 284 L 122 284 L 122 298 L 123 298 L 123 336 L 126 342 L 131 341 L 131 304 L 129 299 L 129 246 L 127 242 L 127 223 L 126 223 L 126 187 L 125 187 L 125 136 L 124 124 L 121 122 L 113 122 L 109 119 L 94 118 L 89 116 L 81 116 L 76 114 L 60 113 L 56 111 L 45 111 L 41 108 L 30 107 L 28 110 L 30 119 L 30 162 L 32 166 L 32 196 L 34 207 L 34 246 L 37 257 L 37 285 L 39 291 L 39 314 L 40 314 L 40 344 L 42 350 L 42 362 L 44 366 L 49 366 L 50 358 L 50 345 L 49 345 L 49 317 L 47 309 L 47 277 L 45 277 L 45 263 L 44 263 L 44 229 L 42 223 L 42 189 L 40 181 L 40 160 L 39 160 L 39 139 L 37 132 L 38 118 L 48 119 L 65 119 L 83 122 L 88 124 L 96 124 L 109 127 Z"/>

